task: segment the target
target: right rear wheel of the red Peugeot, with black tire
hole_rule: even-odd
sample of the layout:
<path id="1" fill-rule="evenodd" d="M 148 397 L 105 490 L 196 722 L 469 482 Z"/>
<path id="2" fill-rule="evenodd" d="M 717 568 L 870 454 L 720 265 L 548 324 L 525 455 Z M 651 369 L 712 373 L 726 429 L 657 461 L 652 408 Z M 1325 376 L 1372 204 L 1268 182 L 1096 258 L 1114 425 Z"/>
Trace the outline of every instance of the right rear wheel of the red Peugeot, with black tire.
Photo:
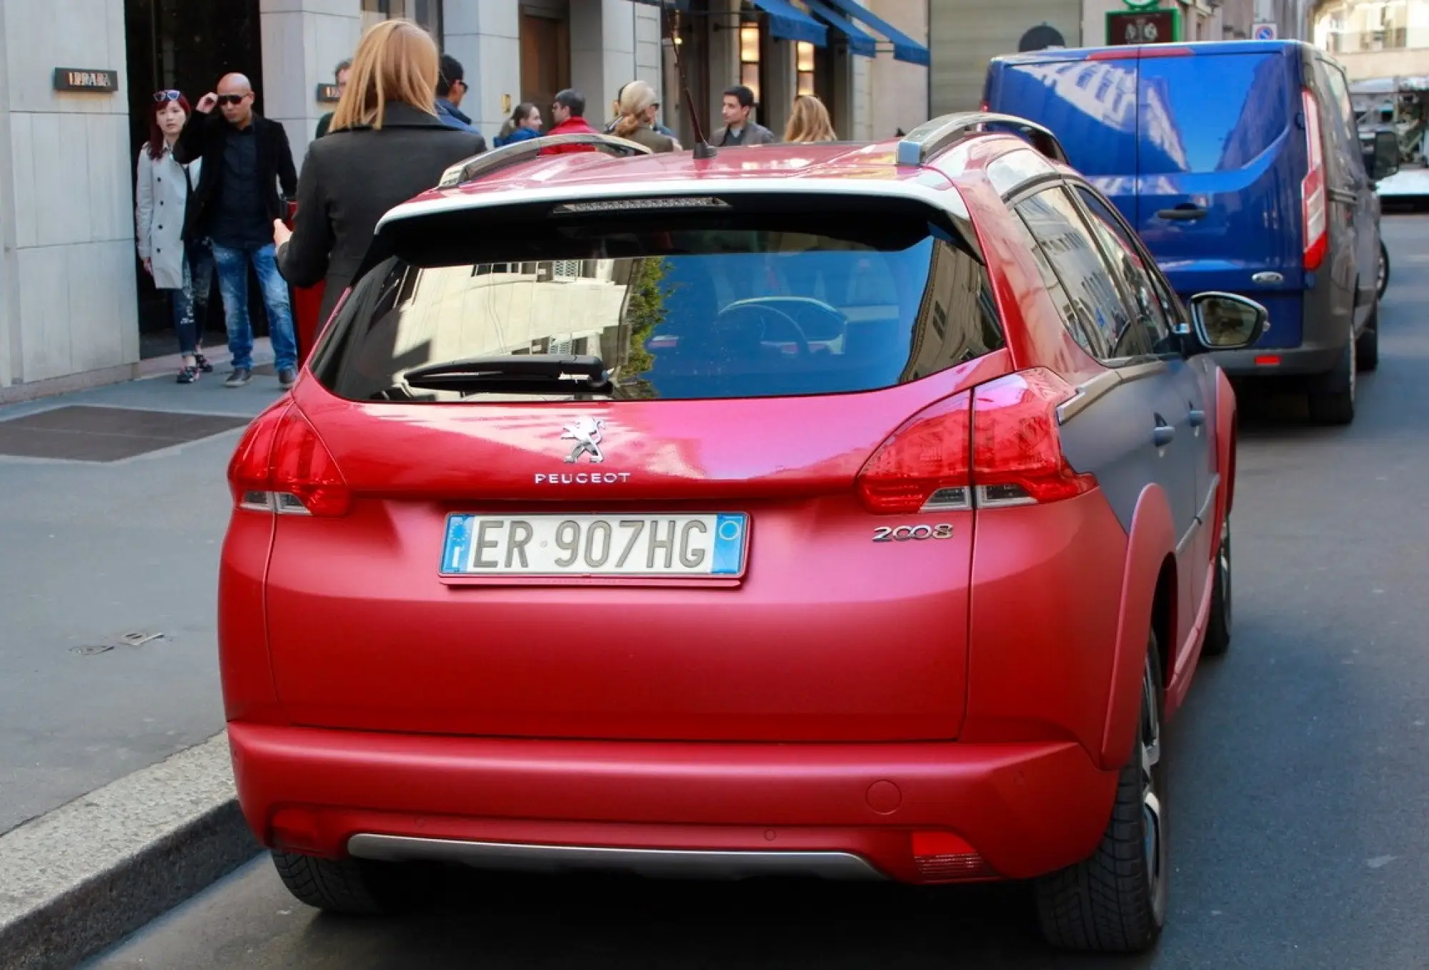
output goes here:
<path id="1" fill-rule="evenodd" d="M 1146 646 L 1142 721 L 1116 784 L 1112 819 L 1096 853 L 1037 880 L 1037 919 L 1047 943 L 1063 950 L 1140 953 L 1166 923 L 1166 814 L 1160 766 L 1160 663 L 1156 636 Z M 1147 849 L 1146 836 L 1155 829 Z"/>

